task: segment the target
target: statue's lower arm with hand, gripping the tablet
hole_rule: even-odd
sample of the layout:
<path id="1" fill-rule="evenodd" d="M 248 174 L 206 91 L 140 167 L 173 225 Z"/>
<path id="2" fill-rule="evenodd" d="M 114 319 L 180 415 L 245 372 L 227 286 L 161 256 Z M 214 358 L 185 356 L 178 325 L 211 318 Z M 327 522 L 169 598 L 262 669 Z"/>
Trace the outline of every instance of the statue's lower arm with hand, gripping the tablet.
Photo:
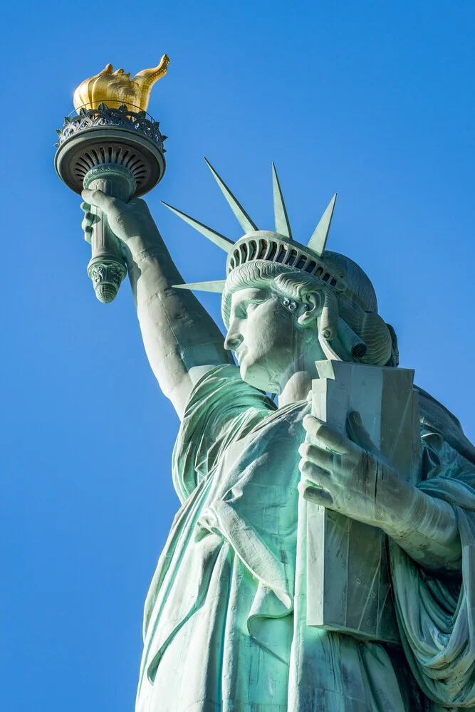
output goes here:
<path id="1" fill-rule="evenodd" d="M 459 570 L 454 510 L 402 479 L 377 451 L 358 414 L 350 414 L 348 422 L 357 444 L 312 416 L 304 420 L 310 443 L 299 450 L 303 497 L 380 527 L 428 569 Z"/>

